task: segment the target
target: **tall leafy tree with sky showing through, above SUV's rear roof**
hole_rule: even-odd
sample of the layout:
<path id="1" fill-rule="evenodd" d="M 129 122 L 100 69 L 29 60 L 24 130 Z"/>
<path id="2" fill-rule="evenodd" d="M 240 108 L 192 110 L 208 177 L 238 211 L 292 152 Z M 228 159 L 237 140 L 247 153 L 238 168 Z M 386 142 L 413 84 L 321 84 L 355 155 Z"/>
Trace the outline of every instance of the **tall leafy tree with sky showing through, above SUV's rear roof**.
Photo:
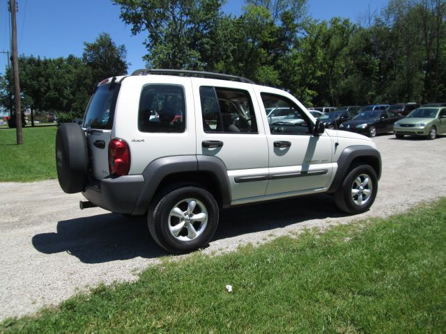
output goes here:
<path id="1" fill-rule="evenodd" d="M 113 0 L 132 34 L 146 32 L 148 67 L 209 70 L 218 47 L 210 35 L 222 18 L 220 0 Z"/>

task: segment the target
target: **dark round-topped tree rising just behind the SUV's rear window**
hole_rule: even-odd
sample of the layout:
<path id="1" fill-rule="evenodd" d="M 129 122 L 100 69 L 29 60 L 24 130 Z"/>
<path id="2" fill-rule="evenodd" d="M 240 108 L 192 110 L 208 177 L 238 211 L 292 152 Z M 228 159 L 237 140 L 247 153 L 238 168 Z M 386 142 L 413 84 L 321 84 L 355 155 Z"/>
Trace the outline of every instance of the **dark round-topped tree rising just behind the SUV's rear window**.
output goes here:
<path id="1" fill-rule="evenodd" d="M 84 42 L 84 46 L 82 61 L 91 68 L 94 82 L 127 74 L 127 50 L 124 45 L 116 46 L 108 33 L 100 33 L 94 42 Z"/>

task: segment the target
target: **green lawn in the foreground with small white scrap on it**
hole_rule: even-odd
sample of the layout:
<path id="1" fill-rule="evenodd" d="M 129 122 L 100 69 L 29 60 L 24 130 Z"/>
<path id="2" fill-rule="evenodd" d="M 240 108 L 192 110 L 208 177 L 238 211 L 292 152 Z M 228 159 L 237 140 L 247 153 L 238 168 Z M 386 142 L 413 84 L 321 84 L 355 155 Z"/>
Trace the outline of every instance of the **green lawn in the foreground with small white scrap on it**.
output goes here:
<path id="1" fill-rule="evenodd" d="M 446 200 L 217 257 L 164 259 L 5 333 L 444 333 Z M 233 285 L 233 292 L 224 287 Z"/>

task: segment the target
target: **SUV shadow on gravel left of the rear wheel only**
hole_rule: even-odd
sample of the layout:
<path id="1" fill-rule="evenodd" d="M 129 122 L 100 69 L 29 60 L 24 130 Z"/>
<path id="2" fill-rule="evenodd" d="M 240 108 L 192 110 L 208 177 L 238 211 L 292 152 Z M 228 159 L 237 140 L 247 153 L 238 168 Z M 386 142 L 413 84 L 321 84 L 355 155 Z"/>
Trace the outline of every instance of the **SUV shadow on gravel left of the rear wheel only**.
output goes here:
<path id="1" fill-rule="evenodd" d="M 145 217 L 112 213 L 59 221 L 56 233 L 36 234 L 32 243 L 41 253 L 67 252 L 91 264 L 168 254 L 151 238 Z"/>

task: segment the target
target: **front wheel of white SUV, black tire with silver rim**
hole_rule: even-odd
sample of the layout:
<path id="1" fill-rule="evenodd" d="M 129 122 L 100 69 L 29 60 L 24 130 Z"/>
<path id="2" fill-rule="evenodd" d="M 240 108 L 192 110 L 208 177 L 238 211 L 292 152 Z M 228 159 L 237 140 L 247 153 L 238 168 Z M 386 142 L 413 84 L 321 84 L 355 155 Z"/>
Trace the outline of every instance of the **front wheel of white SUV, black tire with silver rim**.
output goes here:
<path id="1" fill-rule="evenodd" d="M 357 178 L 361 181 L 366 181 L 366 177 L 369 178 L 369 182 L 360 189 Z M 367 196 L 367 191 L 369 190 L 369 196 Z M 355 191 L 358 191 L 357 195 L 353 195 Z M 374 203 L 376 198 L 376 193 L 378 191 L 378 177 L 376 177 L 376 172 L 374 168 L 369 165 L 356 165 L 351 168 L 344 180 L 339 186 L 339 189 L 334 193 L 334 202 L 336 202 L 337 207 L 348 214 L 361 214 L 366 212 L 371 205 Z M 359 198 L 361 194 L 361 200 Z M 364 195 L 365 194 L 365 195 Z M 362 199 L 364 198 L 364 202 Z"/>

